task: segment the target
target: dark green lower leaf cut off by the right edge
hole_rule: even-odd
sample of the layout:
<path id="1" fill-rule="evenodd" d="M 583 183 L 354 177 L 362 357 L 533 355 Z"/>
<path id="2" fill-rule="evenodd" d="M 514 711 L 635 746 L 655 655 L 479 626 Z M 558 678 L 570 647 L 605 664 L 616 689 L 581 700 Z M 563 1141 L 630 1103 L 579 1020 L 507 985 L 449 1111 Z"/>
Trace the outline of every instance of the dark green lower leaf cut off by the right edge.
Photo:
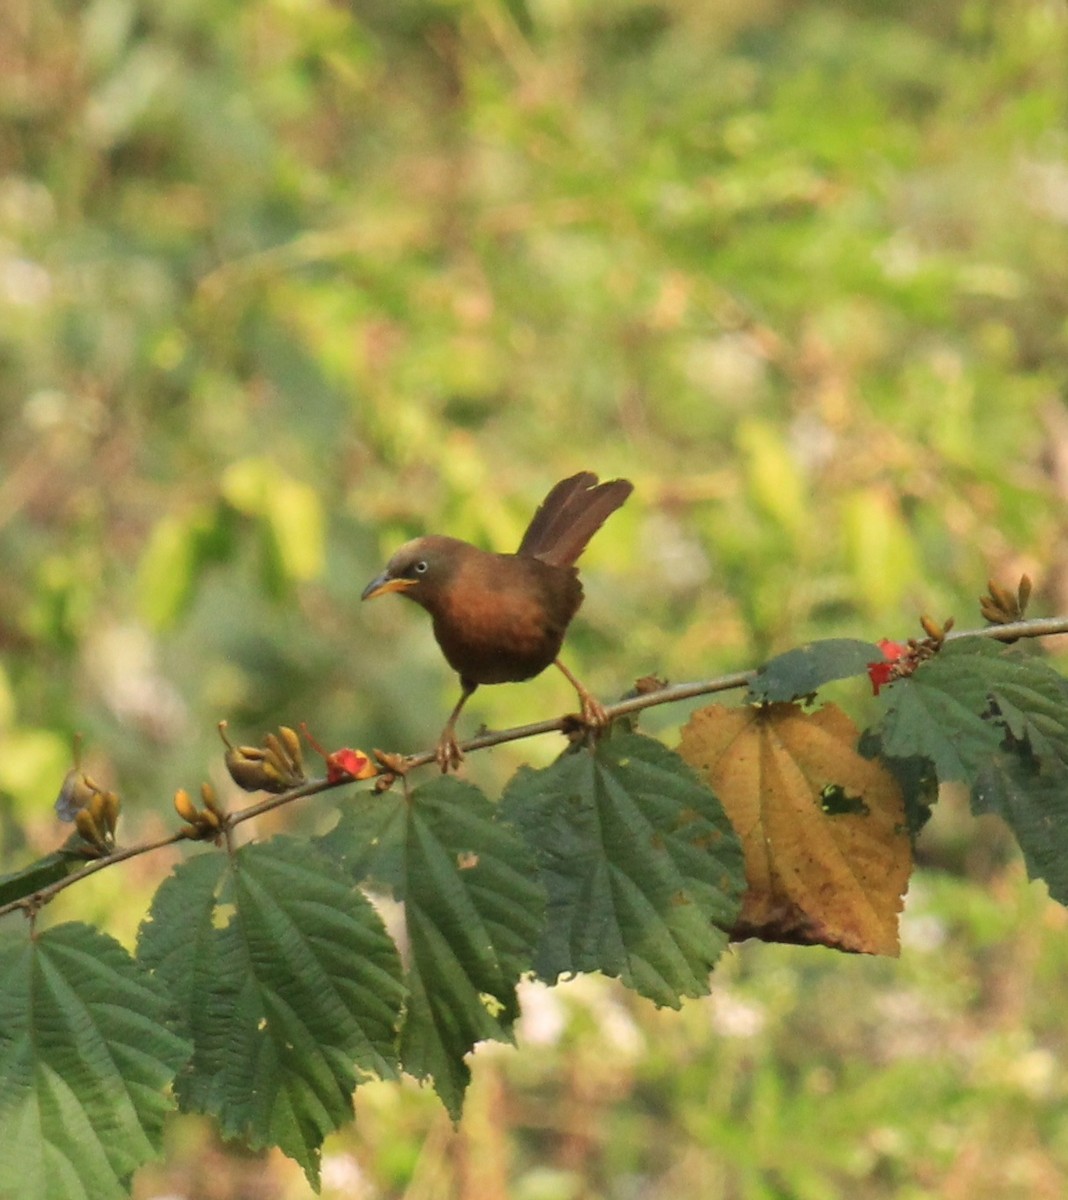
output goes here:
<path id="1" fill-rule="evenodd" d="M 996 812 L 1020 844 L 1028 877 L 1045 880 L 1050 895 L 1068 905 L 1068 770 L 1062 764 L 998 755 L 976 780 L 972 811 Z"/>

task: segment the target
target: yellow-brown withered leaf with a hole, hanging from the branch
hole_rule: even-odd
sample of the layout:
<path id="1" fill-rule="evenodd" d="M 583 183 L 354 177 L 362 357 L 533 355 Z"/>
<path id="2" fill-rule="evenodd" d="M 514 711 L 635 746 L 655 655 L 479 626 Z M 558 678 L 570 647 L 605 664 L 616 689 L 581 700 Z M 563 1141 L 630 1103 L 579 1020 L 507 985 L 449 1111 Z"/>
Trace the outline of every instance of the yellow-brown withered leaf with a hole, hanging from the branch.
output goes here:
<path id="1" fill-rule="evenodd" d="M 834 706 L 710 706 L 679 752 L 715 788 L 745 851 L 739 936 L 898 953 L 911 848 L 893 776 Z"/>

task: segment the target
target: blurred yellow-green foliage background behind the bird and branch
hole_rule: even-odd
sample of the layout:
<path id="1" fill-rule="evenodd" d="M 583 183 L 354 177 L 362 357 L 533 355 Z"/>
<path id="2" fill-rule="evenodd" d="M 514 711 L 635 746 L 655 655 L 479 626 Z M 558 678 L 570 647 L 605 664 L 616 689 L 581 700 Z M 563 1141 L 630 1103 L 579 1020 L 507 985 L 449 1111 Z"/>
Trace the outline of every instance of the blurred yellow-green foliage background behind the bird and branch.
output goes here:
<path id="1" fill-rule="evenodd" d="M 1066 62 L 1063 0 L 0 0 L 4 868 L 64 836 L 76 732 L 124 840 L 226 787 L 222 718 L 430 745 L 455 680 L 364 583 L 424 532 L 512 548 L 582 468 L 636 484 L 569 638 L 605 697 L 974 625 L 989 575 L 1068 612 Z M 467 727 L 565 710 L 554 674 Z M 324 1194 L 1064 1195 L 1066 913 L 966 798 L 919 857 L 900 961 L 744 946 L 682 1013 L 532 986 L 460 1129 L 368 1085 Z M 169 865 L 49 919 L 132 942 Z M 192 1118 L 136 1188 L 310 1194 Z"/>

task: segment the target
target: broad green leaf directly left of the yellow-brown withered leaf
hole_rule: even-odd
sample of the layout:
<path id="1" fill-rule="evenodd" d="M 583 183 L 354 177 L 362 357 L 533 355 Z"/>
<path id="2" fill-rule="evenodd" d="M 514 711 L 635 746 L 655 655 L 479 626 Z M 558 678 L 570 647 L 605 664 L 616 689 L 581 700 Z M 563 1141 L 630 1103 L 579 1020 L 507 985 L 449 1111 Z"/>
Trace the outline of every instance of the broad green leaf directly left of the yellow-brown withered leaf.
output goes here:
<path id="1" fill-rule="evenodd" d="M 745 887 L 719 800 L 652 738 L 623 734 L 509 784 L 505 816 L 536 847 L 548 892 L 548 980 L 618 976 L 658 1004 L 708 991 Z"/>

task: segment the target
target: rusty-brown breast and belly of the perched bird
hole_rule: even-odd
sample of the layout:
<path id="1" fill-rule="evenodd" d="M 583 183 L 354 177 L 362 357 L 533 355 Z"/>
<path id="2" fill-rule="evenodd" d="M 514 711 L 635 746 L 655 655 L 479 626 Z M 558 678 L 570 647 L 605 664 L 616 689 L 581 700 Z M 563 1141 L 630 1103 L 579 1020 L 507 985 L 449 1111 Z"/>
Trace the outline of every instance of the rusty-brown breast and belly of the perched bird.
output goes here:
<path id="1" fill-rule="evenodd" d="M 461 564 L 437 598 L 434 636 L 449 665 L 472 683 L 530 679 L 559 654 L 581 604 L 574 568 L 479 554 Z"/>

